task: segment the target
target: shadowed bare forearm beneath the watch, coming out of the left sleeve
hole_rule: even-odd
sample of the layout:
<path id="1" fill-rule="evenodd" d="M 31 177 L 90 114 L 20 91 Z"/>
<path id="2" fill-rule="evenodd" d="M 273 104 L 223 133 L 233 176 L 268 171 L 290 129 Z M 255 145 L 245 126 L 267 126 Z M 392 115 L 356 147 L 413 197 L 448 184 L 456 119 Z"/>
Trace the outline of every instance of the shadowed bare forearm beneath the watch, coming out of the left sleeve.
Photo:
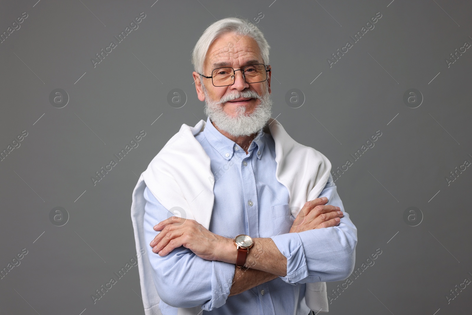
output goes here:
<path id="1" fill-rule="evenodd" d="M 256 269 L 235 267 L 233 285 L 229 290 L 229 297 L 252 289 L 267 281 L 278 278 L 278 275 Z"/>

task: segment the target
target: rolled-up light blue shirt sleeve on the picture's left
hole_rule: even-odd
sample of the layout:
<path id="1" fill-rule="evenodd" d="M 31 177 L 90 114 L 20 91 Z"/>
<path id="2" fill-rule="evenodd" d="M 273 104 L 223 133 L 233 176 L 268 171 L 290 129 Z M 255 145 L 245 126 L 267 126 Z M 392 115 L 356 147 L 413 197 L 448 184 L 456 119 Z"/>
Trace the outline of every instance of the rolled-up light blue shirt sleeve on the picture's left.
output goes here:
<path id="1" fill-rule="evenodd" d="M 173 214 L 159 203 L 148 187 L 144 189 L 144 198 L 144 237 L 149 244 L 159 234 L 153 230 L 154 225 Z M 183 246 L 163 257 L 152 250 L 148 250 L 147 255 L 154 271 L 154 284 L 164 303 L 174 307 L 201 305 L 206 311 L 226 303 L 234 278 L 234 264 L 205 260 Z"/>

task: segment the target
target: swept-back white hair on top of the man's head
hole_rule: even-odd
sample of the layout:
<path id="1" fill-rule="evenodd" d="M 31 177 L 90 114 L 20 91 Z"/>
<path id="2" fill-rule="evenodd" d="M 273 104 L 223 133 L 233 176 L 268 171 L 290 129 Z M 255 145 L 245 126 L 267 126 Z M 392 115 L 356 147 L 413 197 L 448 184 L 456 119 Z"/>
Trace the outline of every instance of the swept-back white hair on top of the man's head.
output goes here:
<path id="1" fill-rule="evenodd" d="M 262 62 L 265 65 L 269 64 L 270 46 L 259 28 L 242 18 L 225 17 L 208 26 L 195 44 L 194 50 L 192 51 L 192 64 L 194 65 L 195 72 L 199 74 L 203 73 L 203 65 L 208 48 L 210 48 L 211 43 L 216 39 L 227 33 L 252 37 L 259 46 Z"/>

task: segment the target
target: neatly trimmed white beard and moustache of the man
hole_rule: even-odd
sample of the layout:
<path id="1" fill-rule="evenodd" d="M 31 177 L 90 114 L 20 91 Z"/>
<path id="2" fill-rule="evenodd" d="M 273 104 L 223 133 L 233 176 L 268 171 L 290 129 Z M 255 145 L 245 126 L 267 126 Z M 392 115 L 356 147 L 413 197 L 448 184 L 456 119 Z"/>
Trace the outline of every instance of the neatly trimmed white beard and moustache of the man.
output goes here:
<path id="1" fill-rule="evenodd" d="M 205 86 L 202 84 L 203 93 L 205 94 L 205 115 L 210 117 L 218 128 L 228 132 L 232 136 L 250 136 L 259 132 L 268 122 L 272 114 L 272 99 L 269 94 L 269 86 L 266 84 L 266 93 L 259 95 L 253 90 L 237 91 L 234 94 L 228 94 L 221 97 L 219 101 L 210 99 Z M 235 100 L 237 98 L 255 98 L 260 100 L 250 115 L 245 115 L 245 106 L 238 106 L 236 109 L 236 117 L 228 115 L 223 110 L 223 103 Z"/>

